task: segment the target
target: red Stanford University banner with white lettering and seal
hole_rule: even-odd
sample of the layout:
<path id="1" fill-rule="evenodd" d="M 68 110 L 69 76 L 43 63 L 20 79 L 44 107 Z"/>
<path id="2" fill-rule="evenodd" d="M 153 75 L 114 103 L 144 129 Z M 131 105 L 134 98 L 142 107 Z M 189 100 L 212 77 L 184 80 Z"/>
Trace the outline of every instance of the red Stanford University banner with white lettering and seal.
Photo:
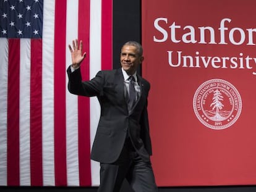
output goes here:
<path id="1" fill-rule="evenodd" d="M 142 1 L 158 186 L 256 184 L 255 7 Z"/>

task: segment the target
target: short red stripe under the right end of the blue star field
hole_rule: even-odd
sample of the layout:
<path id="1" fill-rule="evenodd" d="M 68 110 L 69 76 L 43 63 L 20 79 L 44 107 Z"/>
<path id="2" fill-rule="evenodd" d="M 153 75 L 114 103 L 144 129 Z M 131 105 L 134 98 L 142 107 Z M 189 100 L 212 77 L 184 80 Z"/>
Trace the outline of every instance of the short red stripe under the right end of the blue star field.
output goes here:
<path id="1" fill-rule="evenodd" d="M 31 185 L 43 185 L 42 168 L 42 41 L 31 40 L 30 77 Z"/>

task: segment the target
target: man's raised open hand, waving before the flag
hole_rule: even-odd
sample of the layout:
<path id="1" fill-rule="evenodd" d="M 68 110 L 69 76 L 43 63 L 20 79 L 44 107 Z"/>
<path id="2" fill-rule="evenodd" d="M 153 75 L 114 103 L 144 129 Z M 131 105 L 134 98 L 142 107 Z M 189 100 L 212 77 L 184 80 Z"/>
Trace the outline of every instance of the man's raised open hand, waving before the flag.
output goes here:
<path id="1" fill-rule="evenodd" d="M 83 42 L 80 41 L 80 44 L 78 40 L 73 40 L 72 41 L 73 48 L 69 44 L 69 50 L 71 52 L 71 59 L 72 59 L 72 67 L 75 69 L 77 67 L 80 67 L 81 62 L 83 59 L 85 59 L 86 52 L 83 51 Z"/>

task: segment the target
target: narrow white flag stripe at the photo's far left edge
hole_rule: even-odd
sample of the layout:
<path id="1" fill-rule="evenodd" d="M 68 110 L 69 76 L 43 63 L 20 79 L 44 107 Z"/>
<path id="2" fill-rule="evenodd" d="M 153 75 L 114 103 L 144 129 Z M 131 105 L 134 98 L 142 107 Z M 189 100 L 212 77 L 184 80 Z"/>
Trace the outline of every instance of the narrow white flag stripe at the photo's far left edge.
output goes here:
<path id="1" fill-rule="evenodd" d="M 0 185 L 7 185 L 8 40 L 0 38 Z"/>

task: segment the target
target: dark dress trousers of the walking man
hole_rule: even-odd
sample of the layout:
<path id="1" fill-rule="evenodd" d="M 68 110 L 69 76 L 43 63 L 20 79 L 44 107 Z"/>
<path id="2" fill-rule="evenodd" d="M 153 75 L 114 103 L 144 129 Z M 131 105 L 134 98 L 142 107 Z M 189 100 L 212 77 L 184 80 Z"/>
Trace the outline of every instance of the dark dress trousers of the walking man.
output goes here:
<path id="1" fill-rule="evenodd" d="M 116 162 L 100 164 L 98 192 L 119 192 L 124 178 L 135 192 L 158 191 L 151 163 L 142 161 L 129 138 Z"/>

